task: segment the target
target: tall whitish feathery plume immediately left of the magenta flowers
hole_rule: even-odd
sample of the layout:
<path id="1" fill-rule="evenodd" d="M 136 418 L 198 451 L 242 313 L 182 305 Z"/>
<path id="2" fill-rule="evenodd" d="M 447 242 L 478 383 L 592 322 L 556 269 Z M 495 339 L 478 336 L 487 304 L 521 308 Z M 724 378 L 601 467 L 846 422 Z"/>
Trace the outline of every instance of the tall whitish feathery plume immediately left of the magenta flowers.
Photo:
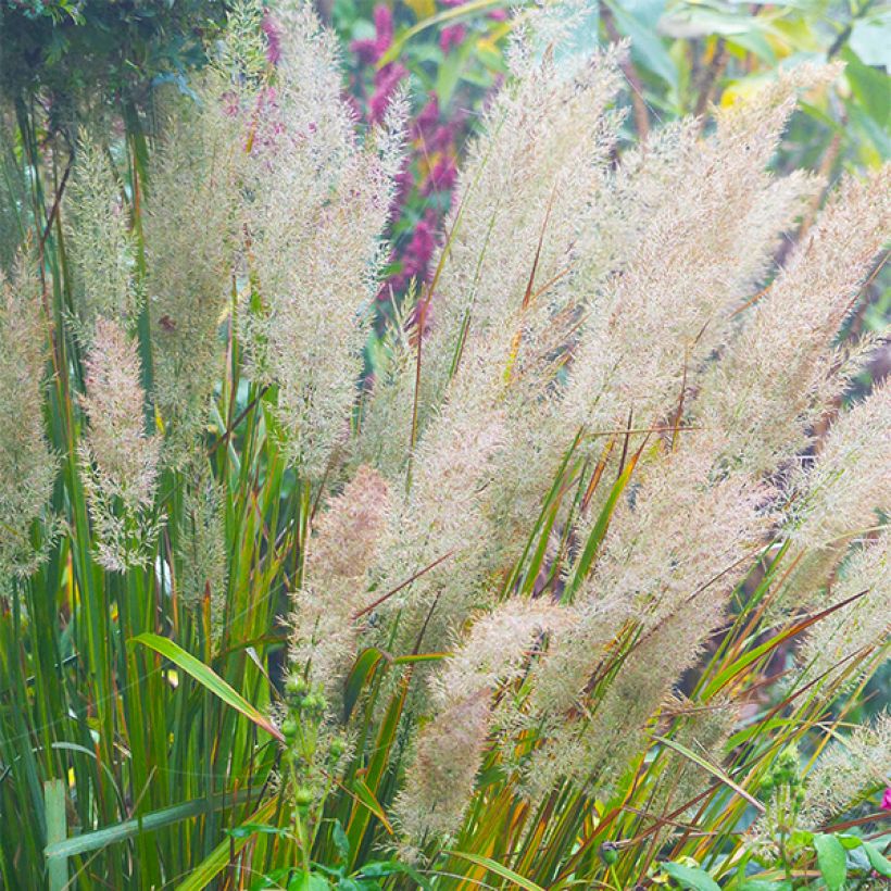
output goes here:
<path id="1" fill-rule="evenodd" d="M 278 387 L 289 457 L 321 479 L 349 432 L 381 233 L 400 167 L 403 98 L 360 145 L 336 38 L 309 3 L 279 15 L 281 58 L 253 137 L 244 204 L 259 309 L 243 316 L 252 373 Z"/>

